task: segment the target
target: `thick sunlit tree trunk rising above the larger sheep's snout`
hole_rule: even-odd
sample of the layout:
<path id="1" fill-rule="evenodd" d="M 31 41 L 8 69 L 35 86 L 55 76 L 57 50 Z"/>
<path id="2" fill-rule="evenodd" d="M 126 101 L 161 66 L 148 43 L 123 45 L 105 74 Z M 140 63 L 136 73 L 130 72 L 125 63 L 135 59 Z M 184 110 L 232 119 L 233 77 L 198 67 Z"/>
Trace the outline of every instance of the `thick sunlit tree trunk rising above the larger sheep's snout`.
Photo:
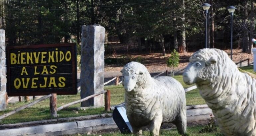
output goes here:
<path id="1" fill-rule="evenodd" d="M 181 36 L 182 36 L 182 53 L 186 53 L 186 28 L 185 28 L 185 0 L 182 1 L 182 10 L 184 11 L 182 14 L 182 32 L 181 32 Z"/>

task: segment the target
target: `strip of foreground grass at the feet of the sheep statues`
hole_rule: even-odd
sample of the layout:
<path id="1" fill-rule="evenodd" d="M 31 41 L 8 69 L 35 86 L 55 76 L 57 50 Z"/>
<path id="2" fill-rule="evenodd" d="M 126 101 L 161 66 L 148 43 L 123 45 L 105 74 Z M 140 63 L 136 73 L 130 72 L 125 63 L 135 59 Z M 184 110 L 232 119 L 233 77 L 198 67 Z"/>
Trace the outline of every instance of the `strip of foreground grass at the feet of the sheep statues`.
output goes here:
<path id="1" fill-rule="evenodd" d="M 203 128 L 204 126 L 194 126 L 194 127 L 188 127 L 187 128 L 187 134 L 188 136 L 224 136 L 220 132 L 219 129 L 213 132 L 207 132 L 207 133 L 199 133 L 199 131 Z M 74 134 L 73 136 L 76 136 L 77 134 Z M 86 136 L 87 134 L 83 134 L 82 136 Z M 121 134 L 120 132 L 114 132 L 114 133 L 99 133 L 99 134 L 93 134 L 95 136 L 134 136 L 133 134 Z M 149 131 L 143 131 L 144 136 L 149 135 Z M 162 130 L 162 134 L 160 136 L 181 136 L 177 129 L 172 129 L 172 130 Z"/>

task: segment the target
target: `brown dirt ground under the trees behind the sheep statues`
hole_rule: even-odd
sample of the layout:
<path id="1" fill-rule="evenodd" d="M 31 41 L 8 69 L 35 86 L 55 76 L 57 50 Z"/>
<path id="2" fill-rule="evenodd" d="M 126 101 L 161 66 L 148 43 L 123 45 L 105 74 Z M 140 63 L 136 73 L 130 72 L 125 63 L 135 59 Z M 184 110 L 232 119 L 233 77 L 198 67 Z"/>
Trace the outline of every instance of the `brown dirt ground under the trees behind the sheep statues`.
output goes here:
<path id="1" fill-rule="evenodd" d="M 229 56 L 230 56 L 230 49 L 224 50 Z M 176 70 L 185 68 L 189 63 L 189 58 L 193 54 L 193 52 L 188 53 L 179 53 L 180 55 L 180 64 L 178 67 L 175 68 Z M 245 60 L 247 58 L 250 59 L 250 62 L 253 62 L 253 54 L 248 53 L 242 53 L 242 49 L 233 49 L 233 61 L 239 62 L 240 60 Z M 123 55 L 123 54 L 122 54 Z M 118 56 L 118 55 L 116 55 Z M 142 58 L 142 64 L 144 64 L 150 73 L 156 73 L 156 72 L 163 72 L 168 69 L 166 65 L 166 60 L 170 56 L 170 54 L 167 54 L 166 56 L 163 56 L 162 53 L 130 53 L 128 55 L 129 57 L 141 57 Z M 120 71 L 123 68 L 123 65 L 117 64 L 117 65 L 105 65 L 105 72 L 114 72 L 114 71 Z"/>

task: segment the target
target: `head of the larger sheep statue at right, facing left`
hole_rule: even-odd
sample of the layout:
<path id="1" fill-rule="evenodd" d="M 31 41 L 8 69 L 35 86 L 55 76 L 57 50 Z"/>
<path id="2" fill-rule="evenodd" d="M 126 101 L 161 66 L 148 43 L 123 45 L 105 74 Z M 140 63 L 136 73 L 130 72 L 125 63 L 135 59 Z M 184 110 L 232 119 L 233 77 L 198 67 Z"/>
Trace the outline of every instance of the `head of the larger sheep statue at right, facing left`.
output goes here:
<path id="1" fill-rule="evenodd" d="M 190 63 L 183 73 L 183 81 L 199 87 L 214 84 L 223 74 L 232 70 L 230 67 L 236 68 L 234 63 L 227 63 L 227 59 L 229 59 L 228 55 L 219 49 L 198 50 L 189 59 Z"/>

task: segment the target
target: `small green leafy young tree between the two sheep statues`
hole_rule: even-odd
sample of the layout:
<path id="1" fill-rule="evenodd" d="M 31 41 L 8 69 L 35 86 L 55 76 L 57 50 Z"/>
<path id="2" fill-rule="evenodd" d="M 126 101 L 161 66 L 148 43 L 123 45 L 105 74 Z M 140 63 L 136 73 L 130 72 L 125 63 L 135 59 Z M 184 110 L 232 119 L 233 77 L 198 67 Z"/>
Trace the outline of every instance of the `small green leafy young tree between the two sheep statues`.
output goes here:
<path id="1" fill-rule="evenodd" d="M 179 66 L 179 61 L 179 53 L 174 49 L 166 61 L 167 66 L 171 68 L 171 77 L 174 76 L 174 68 Z"/>

